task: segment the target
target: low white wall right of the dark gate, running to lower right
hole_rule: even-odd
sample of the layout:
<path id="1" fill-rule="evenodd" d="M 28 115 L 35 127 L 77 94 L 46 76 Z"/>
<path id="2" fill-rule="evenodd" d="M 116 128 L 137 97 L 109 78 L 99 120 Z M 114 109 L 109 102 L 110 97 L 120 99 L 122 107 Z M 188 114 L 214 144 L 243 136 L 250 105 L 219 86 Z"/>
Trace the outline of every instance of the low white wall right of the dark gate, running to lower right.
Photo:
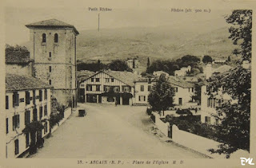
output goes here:
<path id="1" fill-rule="evenodd" d="M 190 132 L 179 130 L 176 125 L 173 125 L 172 127 L 172 140 L 174 143 L 206 154 L 211 158 L 226 158 L 226 154 L 211 154 L 210 151 L 208 151 L 211 148 L 217 149 L 218 145 L 221 143 L 212 139 L 206 139 L 199 135 L 191 134 Z M 237 150 L 233 154 L 230 154 L 230 158 L 248 158 L 248 156 L 249 152 L 246 150 Z"/>

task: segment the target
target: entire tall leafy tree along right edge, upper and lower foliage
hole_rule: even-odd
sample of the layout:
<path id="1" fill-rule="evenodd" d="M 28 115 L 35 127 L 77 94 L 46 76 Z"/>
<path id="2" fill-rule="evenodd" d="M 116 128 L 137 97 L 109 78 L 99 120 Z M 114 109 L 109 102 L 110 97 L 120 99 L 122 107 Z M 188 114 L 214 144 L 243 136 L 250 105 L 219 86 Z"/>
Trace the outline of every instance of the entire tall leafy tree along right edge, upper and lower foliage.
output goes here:
<path id="1" fill-rule="evenodd" d="M 234 10 L 226 21 L 234 25 L 229 29 L 230 38 L 234 45 L 240 45 L 242 60 L 250 61 L 252 10 Z M 222 92 L 236 101 L 229 101 L 218 107 L 218 115 L 215 117 L 221 120 L 217 131 L 222 145 L 210 151 L 231 154 L 238 149 L 250 150 L 251 69 L 238 66 L 228 74 L 217 76 L 211 85 L 214 90 L 224 88 Z"/>

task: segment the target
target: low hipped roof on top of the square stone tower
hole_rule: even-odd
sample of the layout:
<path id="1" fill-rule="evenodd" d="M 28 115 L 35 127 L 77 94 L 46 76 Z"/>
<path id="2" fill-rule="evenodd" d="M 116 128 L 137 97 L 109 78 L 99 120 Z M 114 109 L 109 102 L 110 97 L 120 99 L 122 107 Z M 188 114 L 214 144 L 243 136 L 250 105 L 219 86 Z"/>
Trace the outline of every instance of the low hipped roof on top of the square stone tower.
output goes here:
<path id="1" fill-rule="evenodd" d="M 27 28 L 72 28 L 74 29 L 74 32 L 76 34 L 78 33 L 78 30 L 75 29 L 74 25 L 67 24 L 63 21 L 58 21 L 57 19 L 50 19 L 46 21 L 38 21 L 34 23 L 30 23 L 26 25 Z"/>

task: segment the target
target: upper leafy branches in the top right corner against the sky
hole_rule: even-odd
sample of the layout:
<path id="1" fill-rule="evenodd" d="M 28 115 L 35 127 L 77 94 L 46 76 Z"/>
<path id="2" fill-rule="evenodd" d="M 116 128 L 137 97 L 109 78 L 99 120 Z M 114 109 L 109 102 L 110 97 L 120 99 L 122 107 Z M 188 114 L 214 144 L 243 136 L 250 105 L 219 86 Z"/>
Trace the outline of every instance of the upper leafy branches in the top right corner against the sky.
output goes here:
<path id="1" fill-rule="evenodd" d="M 242 55 L 242 60 L 251 60 L 251 28 L 252 10 L 233 10 L 226 22 L 232 24 L 230 27 L 230 38 L 234 45 L 240 45 L 241 49 L 235 49 L 234 53 Z"/>

